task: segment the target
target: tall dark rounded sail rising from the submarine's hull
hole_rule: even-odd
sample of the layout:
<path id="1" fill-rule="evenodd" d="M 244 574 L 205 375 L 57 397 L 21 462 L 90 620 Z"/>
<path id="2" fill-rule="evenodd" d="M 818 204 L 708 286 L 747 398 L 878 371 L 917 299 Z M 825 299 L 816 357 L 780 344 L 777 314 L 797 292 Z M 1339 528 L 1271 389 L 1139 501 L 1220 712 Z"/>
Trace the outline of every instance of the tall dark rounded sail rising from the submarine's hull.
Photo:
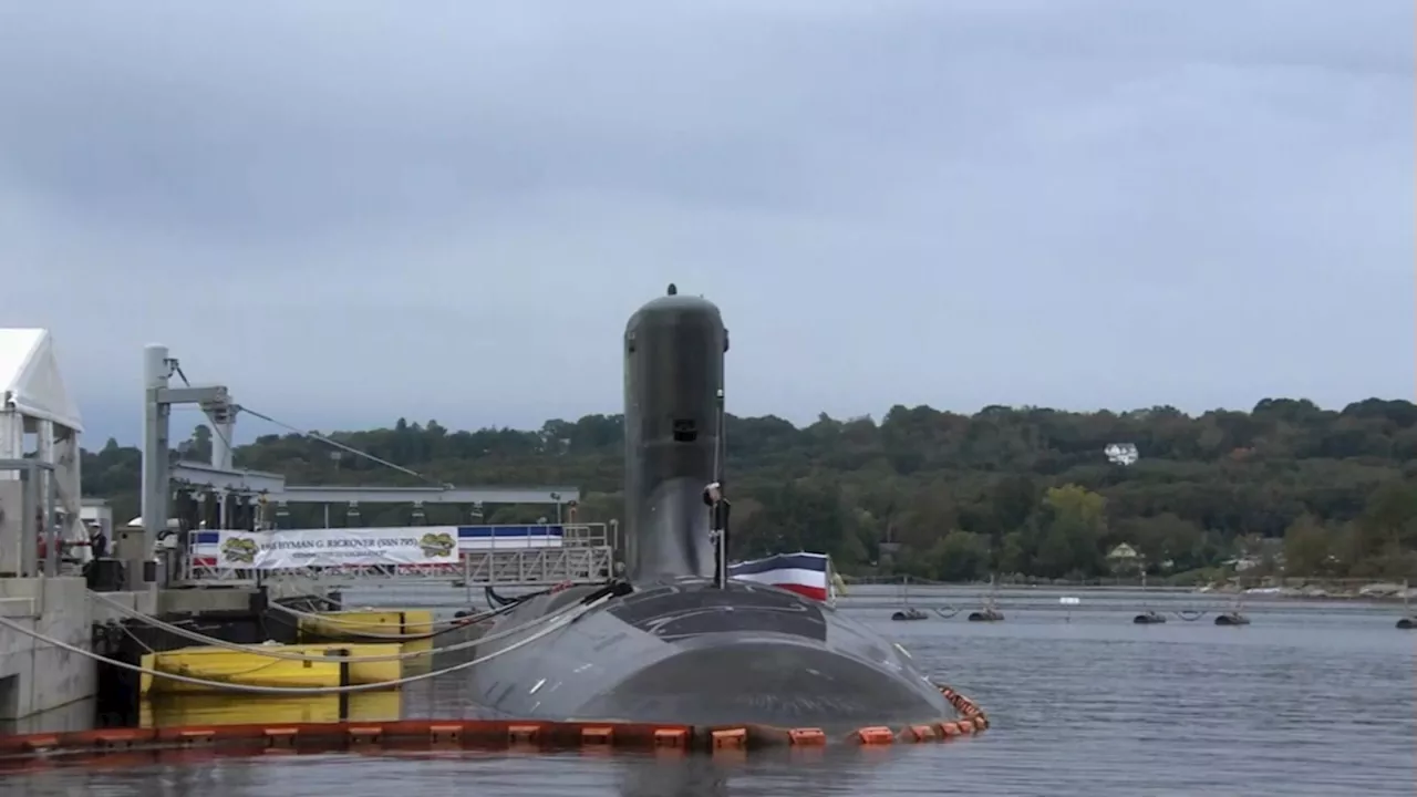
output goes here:
<path id="1" fill-rule="evenodd" d="M 674 285 L 625 325 L 625 577 L 714 570 L 703 489 L 716 481 L 728 330 L 718 306 Z"/>

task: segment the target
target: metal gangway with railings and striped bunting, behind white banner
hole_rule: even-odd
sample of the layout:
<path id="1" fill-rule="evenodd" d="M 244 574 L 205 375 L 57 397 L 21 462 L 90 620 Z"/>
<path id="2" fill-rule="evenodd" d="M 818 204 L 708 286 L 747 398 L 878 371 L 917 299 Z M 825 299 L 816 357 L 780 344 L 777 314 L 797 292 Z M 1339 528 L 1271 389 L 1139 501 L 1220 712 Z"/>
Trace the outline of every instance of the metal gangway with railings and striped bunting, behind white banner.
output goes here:
<path id="1" fill-rule="evenodd" d="M 390 529 L 336 529 L 357 537 Z M 445 581 L 449 586 L 540 587 L 599 583 L 611 577 L 619 547 L 618 523 L 536 523 L 480 526 L 407 526 L 422 535 L 451 530 L 458 557 L 439 564 L 356 564 L 255 570 L 221 564 L 221 530 L 193 529 L 174 535 L 171 563 L 179 587 L 293 586 L 350 587 L 371 581 Z M 271 532 L 281 535 L 281 530 Z M 289 535 L 298 532 L 285 532 Z"/>

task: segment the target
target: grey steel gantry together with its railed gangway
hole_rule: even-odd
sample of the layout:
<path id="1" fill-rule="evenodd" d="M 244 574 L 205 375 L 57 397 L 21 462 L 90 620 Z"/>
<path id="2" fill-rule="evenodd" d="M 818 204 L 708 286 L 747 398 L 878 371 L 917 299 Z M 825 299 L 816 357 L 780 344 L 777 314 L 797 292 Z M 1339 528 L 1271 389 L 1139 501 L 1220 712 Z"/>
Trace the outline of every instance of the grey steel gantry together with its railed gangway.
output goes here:
<path id="1" fill-rule="evenodd" d="M 570 509 L 572 525 L 565 526 L 567 537 L 563 546 L 466 550 L 462 552 L 459 563 L 451 569 L 448 566 L 299 569 L 264 572 L 259 574 L 264 583 L 303 580 L 316 584 L 349 584 L 370 579 L 442 579 L 533 586 L 598 580 L 611 572 L 615 552 L 614 523 L 574 525 L 574 508 L 581 498 L 578 488 L 563 485 L 458 488 L 431 481 L 428 486 L 289 485 L 279 474 L 237 468 L 232 461 L 231 441 L 237 416 L 245 411 L 266 420 L 273 418 L 242 408 L 224 386 L 187 383 L 180 363 L 166 346 L 152 345 L 145 349 L 143 372 L 146 406 L 143 511 L 142 516 L 120 529 L 115 539 L 115 556 L 128 562 L 130 573 L 143 573 L 143 562 L 174 554 L 164 569 L 170 586 L 255 584 L 258 583 L 255 572 L 222 570 L 196 557 L 193 554 L 196 540 L 191 535 L 198 525 L 205 529 L 273 529 L 279 525 L 276 518 L 286 515 L 288 506 L 293 503 L 324 505 L 326 515 L 330 506 L 344 506 L 350 519 L 359 516 L 359 506 L 363 503 L 410 503 L 415 516 L 422 516 L 422 508 L 427 505 L 461 505 L 468 506 L 473 518 L 482 518 L 482 508 L 489 503 L 547 505 L 554 506 L 557 523 L 561 523 L 567 515 L 565 509 Z M 171 384 L 174 376 L 181 379 L 183 387 Z M 171 408 L 179 404 L 201 407 L 211 421 L 214 434 L 210 462 L 169 461 L 166 452 L 170 451 Z M 353 451 L 327 438 L 324 441 Z M 408 472 L 398 465 L 384 464 Z M 201 523 L 188 520 L 176 523 L 179 528 L 171 529 L 169 518 L 174 494 L 186 494 L 203 505 L 197 511 L 203 518 Z M 359 529 L 350 532 L 359 533 Z M 166 545 L 160 546 L 159 537 L 163 537 Z"/>

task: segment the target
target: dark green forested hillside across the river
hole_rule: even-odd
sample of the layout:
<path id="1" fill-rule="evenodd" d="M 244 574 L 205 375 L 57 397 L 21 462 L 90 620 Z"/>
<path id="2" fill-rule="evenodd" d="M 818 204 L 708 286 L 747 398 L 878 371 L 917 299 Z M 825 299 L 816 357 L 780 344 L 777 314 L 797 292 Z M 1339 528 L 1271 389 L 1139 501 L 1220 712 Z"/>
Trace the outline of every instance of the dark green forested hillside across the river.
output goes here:
<path id="1" fill-rule="evenodd" d="M 455 485 L 580 485 L 581 518 L 609 519 L 619 516 L 621 433 L 619 416 L 587 416 L 536 431 L 455 433 L 400 420 L 332 437 Z M 205 435 L 184 444 L 190 455 L 204 452 Z M 1139 458 L 1111 462 L 1110 444 L 1134 444 Z M 333 451 L 272 435 L 241 447 L 237 462 L 292 484 L 417 484 Z M 1417 576 L 1417 406 L 1408 401 L 1329 411 L 1272 398 L 1250 413 L 1200 417 L 1169 407 L 975 416 L 894 407 L 880 423 L 822 416 L 803 428 L 730 417 L 728 457 L 743 556 L 828 550 L 842 569 L 862 572 L 877 569 L 891 542 L 900 545 L 891 567 L 925 577 L 1093 577 L 1117 566 L 1107 553 L 1125 542 L 1153 573 L 1250 556 L 1291 576 Z M 85 454 L 86 495 L 136 513 L 137 485 L 136 448 L 109 442 Z M 492 509 L 489 520 L 544 512 Z M 407 522 L 390 512 L 380 519 L 364 508 L 363 520 Z"/>

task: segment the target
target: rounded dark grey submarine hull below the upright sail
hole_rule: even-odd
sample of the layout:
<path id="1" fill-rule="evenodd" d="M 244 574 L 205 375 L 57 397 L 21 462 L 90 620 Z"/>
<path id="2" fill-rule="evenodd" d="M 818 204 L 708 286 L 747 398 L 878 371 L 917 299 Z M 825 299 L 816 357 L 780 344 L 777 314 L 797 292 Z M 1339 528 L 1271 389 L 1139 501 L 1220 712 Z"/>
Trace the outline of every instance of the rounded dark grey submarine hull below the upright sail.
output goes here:
<path id="1" fill-rule="evenodd" d="M 529 600 L 492 631 L 592 591 Z M 908 655 L 836 610 L 777 587 L 714 589 L 683 579 L 612 598 L 575 623 L 472 668 L 473 693 L 497 715 L 694 726 L 820 728 L 938 722 L 952 709 Z"/>

